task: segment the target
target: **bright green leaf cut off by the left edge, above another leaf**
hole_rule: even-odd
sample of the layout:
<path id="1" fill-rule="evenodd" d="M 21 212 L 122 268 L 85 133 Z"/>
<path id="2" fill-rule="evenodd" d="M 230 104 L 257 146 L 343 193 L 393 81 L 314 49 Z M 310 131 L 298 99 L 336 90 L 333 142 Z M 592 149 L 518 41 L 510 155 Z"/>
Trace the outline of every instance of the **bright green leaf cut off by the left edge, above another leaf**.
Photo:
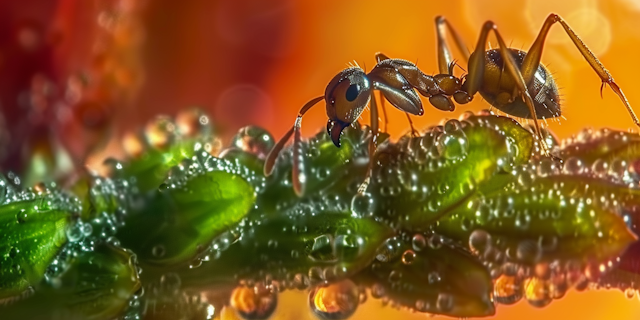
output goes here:
<path id="1" fill-rule="evenodd" d="M 0 298 L 37 284 L 67 241 L 69 199 L 59 193 L 23 192 L 19 200 L 0 206 Z M 79 210 L 78 210 L 79 211 Z"/>

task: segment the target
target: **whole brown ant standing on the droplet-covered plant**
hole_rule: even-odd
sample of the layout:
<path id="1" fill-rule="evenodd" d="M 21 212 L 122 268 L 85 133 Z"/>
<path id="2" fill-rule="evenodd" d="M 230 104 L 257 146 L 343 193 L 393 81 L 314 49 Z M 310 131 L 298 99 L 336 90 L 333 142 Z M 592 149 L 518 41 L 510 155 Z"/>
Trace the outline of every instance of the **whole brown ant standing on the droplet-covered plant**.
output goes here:
<path id="1" fill-rule="evenodd" d="M 620 97 L 635 124 L 640 127 L 640 121 L 609 71 L 557 14 L 550 14 L 547 17 L 528 52 L 508 48 L 496 24 L 492 21 L 487 21 L 482 26 L 473 53 L 469 52 L 462 38 L 444 17 L 436 17 L 435 23 L 440 74 L 426 75 L 412 62 L 390 59 L 381 53 L 376 54 L 377 64 L 369 73 L 365 73 L 359 67 L 341 71 L 329 82 L 324 96 L 312 99 L 300 109 L 293 127 L 267 156 L 264 165 L 265 175 L 271 174 L 278 154 L 293 135 L 293 188 L 298 196 L 302 196 L 306 180 L 300 150 L 302 116 L 324 99 L 329 117 L 327 133 L 333 143 L 340 147 L 342 130 L 357 120 L 371 102 L 372 139 L 369 141 L 369 166 L 365 180 L 358 189 L 358 193 L 364 193 L 370 181 L 373 155 L 377 147 L 378 107 L 373 96 L 374 90 L 380 91 L 383 101 L 386 99 L 397 109 L 418 116 L 422 115 L 424 110 L 416 90 L 422 96 L 429 98 L 431 105 L 444 111 L 454 110 L 453 100 L 458 104 L 466 104 L 476 93 L 480 93 L 487 102 L 500 111 L 515 117 L 532 119 L 544 153 L 554 157 L 550 155 L 544 143 L 538 119 L 555 118 L 561 114 L 558 87 L 550 72 L 540 63 L 545 39 L 555 23 L 562 25 L 576 48 L 598 74 L 602 81 L 600 90 L 602 91 L 605 85 L 609 85 Z M 451 33 L 458 50 L 468 61 L 468 74 L 461 78 L 453 75 L 453 67 L 456 64 L 445 40 L 447 31 Z M 499 49 L 485 49 L 490 31 L 494 32 Z"/>

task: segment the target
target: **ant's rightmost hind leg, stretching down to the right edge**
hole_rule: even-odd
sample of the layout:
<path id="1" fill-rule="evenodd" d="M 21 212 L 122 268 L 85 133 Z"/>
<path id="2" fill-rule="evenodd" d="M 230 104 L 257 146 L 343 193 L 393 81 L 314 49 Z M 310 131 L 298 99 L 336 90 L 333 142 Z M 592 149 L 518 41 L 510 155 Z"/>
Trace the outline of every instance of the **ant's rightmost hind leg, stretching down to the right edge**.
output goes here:
<path id="1" fill-rule="evenodd" d="M 631 116 L 633 122 L 636 124 L 636 126 L 640 127 L 640 120 L 638 120 L 638 117 L 633 112 L 631 105 L 629 105 L 627 97 L 624 95 L 622 89 L 620 89 L 618 84 L 616 84 L 616 82 L 613 80 L 613 77 L 611 76 L 609 71 L 604 67 L 602 62 L 600 62 L 600 60 L 596 58 L 593 52 L 589 50 L 587 45 L 582 42 L 580 37 L 578 37 L 578 35 L 571 29 L 571 27 L 569 27 L 569 25 L 557 14 L 552 13 L 547 17 L 547 20 L 545 20 L 544 24 L 542 25 L 540 33 L 538 33 L 538 37 L 533 42 L 533 45 L 531 45 L 531 48 L 529 49 L 527 55 L 524 58 L 524 61 L 522 62 L 520 70 L 522 71 L 522 76 L 524 77 L 525 83 L 529 84 L 533 80 L 534 74 L 538 69 L 538 65 L 540 64 L 542 49 L 544 47 L 544 42 L 546 40 L 547 34 L 549 33 L 551 26 L 553 26 L 556 22 L 562 25 L 569 38 L 571 38 L 571 41 L 573 41 L 573 43 L 575 44 L 576 48 L 580 50 L 582 56 L 587 60 L 591 68 L 593 68 L 593 70 L 598 74 L 598 76 L 602 80 L 602 85 L 609 85 L 609 87 L 611 87 L 611 90 L 613 90 L 613 92 L 615 92 L 618 97 L 620 97 L 620 100 L 622 100 L 622 103 L 627 108 L 627 111 L 629 112 L 629 115 Z M 600 90 L 602 93 L 602 88 Z"/>

